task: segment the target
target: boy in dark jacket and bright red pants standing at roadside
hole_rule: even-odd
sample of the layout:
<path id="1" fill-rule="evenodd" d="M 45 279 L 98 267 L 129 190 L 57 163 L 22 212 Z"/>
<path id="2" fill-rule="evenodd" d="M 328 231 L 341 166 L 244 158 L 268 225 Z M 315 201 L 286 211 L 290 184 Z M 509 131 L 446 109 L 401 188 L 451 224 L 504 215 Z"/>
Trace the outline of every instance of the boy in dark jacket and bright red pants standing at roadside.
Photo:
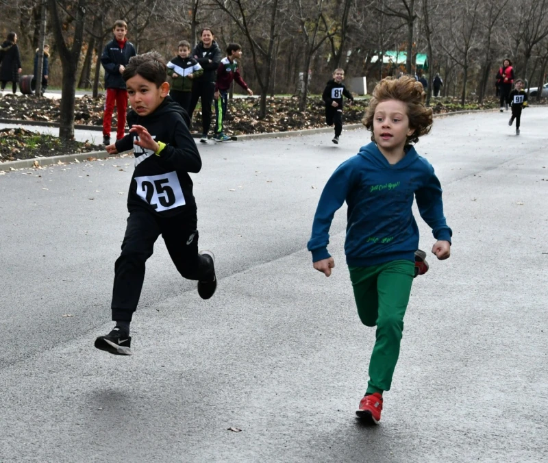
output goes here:
<path id="1" fill-rule="evenodd" d="M 119 19 L 112 28 L 114 38 L 108 42 L 101 55 L 101 64 L 105 68 L 105 88 L 107 99 L 103 114 L 103 145 L 110 145 L 110 126 L 112 125 L 112 113 L 116 104 L 116 140 L 120 140 L 125 132 L 125 112 L 127 110 L 127 90 L 122 78 L 125 66 L 129 58 L 135 56 L 135 47 L 127 41 L 127 24 Z"/>

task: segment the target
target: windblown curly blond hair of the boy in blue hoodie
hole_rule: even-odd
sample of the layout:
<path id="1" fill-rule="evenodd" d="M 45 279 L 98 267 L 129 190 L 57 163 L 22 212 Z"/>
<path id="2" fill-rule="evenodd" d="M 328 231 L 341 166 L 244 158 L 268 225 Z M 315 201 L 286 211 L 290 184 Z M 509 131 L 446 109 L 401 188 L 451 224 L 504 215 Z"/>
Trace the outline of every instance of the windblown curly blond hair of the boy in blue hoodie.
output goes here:
<path id="1" fill-rule="evenodd" d="M 369 100 L 369 106 L 362 119 L 363 125 L 371 130 L 371 141 L 375 141 L 373 133 L 373 119 L 377 105 L 382 101 L 398 100 L 406 103 L 409 127 L 414 132 L 408 136 L 407 144 L 416 143 L 419 137 L 426 135 L 432 128 L 432 108 L 424 105 L 426 94 L 421 82 L 416 82 L 413 77 L 402 76 L 399 79 L 386 77 L 375 86 L 373 97 Z"/>

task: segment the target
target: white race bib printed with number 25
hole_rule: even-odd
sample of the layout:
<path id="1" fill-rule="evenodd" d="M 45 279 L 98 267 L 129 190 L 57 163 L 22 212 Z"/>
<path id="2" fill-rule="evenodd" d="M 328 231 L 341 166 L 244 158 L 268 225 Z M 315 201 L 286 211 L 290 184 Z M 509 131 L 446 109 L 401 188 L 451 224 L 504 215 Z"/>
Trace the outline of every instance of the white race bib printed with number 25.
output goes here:
<path id="1" fill-rule="evenodd" d="M 185 205 L 183 190 L 176 172 L 150 177 L 135 177 L 137 195 L 158 212 Z"/>

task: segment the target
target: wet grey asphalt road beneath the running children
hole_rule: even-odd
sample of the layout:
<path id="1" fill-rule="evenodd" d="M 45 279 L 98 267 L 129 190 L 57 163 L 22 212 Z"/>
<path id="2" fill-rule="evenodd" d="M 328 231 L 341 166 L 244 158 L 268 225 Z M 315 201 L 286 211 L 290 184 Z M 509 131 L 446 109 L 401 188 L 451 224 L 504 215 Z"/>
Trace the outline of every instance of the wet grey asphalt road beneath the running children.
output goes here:
<path id="1" fill-rule="evenodd" d="M 306 251 L 364 130 L 200 145 L 219 290 L 202 301 L 159 240 L 129 358 L 93 341 L 112 327 L 132 160 L 0 175 L 0 462 L 547 461 L 547 118 L 525 110 L 519 137 L 508 113 L 440 118 L 419 142 L 453 255 L 415 280 L 377 427 L 354 418 L 374 330 L 353 303 L 344 210 L 334 275 Z"/>

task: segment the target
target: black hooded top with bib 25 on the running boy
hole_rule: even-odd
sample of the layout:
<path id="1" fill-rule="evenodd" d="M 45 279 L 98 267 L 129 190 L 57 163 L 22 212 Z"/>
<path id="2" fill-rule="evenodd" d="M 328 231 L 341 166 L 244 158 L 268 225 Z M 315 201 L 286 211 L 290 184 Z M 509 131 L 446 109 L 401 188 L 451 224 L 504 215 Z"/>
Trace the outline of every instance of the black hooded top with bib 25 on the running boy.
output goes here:
<path id="1" fill-rule="evenodd" d="M 201 169 L 201 158 L 194 139 L 188 131 L 190 118 L 179 103 L 166 97 L 148 116 L 127 113 L 127 123 L 146 127 L 156 142 L 167 146 L 155 155 L 149 149 L 134 145 L 135 134 L 128 134 L 116 142 L 116 150 L 134 150 L 135 171 L 129 184 L 127 209 L 146 209 L 153 214 L 169 217 L 196 214 L 189 172 Z"/>

